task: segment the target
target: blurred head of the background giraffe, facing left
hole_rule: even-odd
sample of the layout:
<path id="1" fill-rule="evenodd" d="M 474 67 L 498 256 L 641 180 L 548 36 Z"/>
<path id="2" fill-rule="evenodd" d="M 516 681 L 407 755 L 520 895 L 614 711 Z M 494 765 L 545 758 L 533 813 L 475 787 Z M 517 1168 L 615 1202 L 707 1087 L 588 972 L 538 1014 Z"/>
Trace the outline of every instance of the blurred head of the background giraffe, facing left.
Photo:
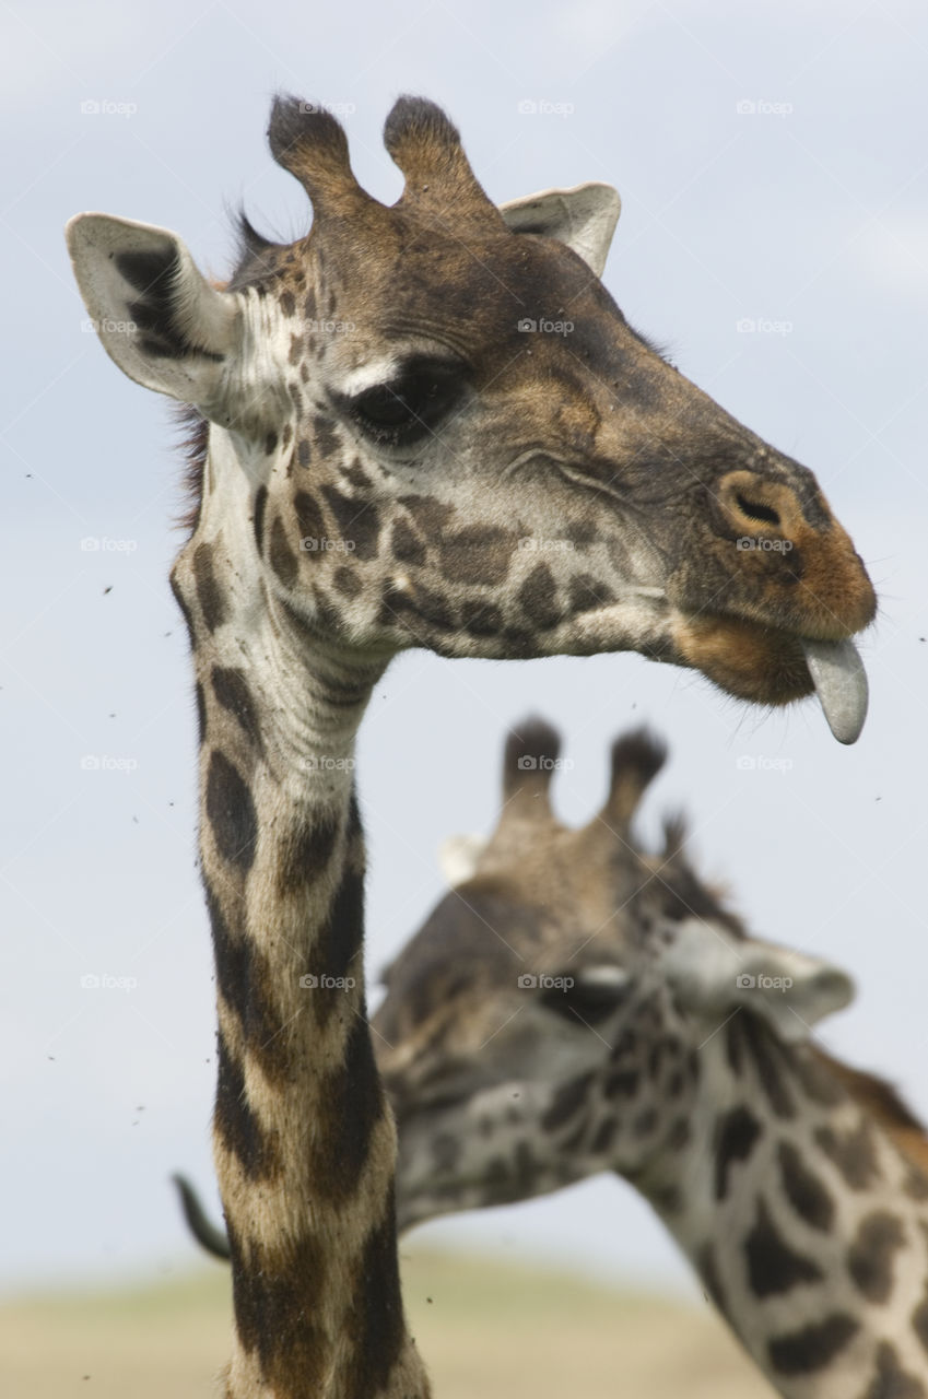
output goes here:
<path id="1" fill-rule="evenodd" d="M 558 747 L 537 722 L 511 736 L 493 838 L 455 848 L 458 883 L 385 977 L 374 1025 L 400 1227 L 599 1171 L 651 1177 L 659 1195 L 659 1164 L 694 1128 L 704 1046 L 732 1016 L 801 1044 L 851 999 L 837 968 L 745 932 L 689 866 L 679 823 L 659 855 L 635 845 L 663 762 L 654 737 L 619 739 L 581 830 L 549 804 Z"/>

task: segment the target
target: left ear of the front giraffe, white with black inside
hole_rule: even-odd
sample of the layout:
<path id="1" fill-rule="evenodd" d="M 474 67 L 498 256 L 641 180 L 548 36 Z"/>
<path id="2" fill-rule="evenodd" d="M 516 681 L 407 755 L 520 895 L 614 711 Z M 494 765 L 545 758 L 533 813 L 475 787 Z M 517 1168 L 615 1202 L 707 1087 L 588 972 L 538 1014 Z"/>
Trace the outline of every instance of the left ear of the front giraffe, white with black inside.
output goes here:
<path id="1" fill-rule="evenodd" d="M 238 297 L 217 291 L 167 228 L 77 214 L 66 228 L 74 276 L 106 354 L 136 383 L 223 411 Z"/>

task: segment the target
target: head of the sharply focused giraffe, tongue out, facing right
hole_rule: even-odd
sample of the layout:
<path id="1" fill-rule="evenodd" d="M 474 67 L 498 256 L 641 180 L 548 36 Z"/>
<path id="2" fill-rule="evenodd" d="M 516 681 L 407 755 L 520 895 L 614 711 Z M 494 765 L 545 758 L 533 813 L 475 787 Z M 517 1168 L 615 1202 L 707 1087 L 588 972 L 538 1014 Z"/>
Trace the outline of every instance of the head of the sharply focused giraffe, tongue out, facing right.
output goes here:
<path id="1" fill-rule="evenodd" d="M 763 704 L 815 683 L 852 740 L 866 572 L 813 474 L 603 288 L 614 190 L 500 210 L 447 116 L 410 98 L 385 127 L 406 178 L 392 207 L 328 112 L 279 99 L 269 139 L 312 228 L 272 245 L 245 225 L 224 287 L 165 229 L 69 225 L 108 353 L 197 414 L 175 567 L 195 632 L 246 581 L 245 609 L 270 599 L 283 625 L 371 658 L 635 649 Z"/>

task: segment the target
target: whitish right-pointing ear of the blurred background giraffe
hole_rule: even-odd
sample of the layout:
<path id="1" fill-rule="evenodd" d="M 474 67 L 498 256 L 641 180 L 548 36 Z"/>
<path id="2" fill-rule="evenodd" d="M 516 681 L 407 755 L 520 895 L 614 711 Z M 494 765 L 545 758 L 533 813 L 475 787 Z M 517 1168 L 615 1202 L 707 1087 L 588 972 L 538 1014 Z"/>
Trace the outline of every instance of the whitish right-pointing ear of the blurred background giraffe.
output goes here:
<path id="1" fill-rule="evenodd" d="M 680 1002 L 719 1024 L 736 1010 L 761 1016 L 789 1044 L 854 999 L 854 982 L 833 963 L 718 925 L 686 919 L 668 950 L 668 979 Z"/>

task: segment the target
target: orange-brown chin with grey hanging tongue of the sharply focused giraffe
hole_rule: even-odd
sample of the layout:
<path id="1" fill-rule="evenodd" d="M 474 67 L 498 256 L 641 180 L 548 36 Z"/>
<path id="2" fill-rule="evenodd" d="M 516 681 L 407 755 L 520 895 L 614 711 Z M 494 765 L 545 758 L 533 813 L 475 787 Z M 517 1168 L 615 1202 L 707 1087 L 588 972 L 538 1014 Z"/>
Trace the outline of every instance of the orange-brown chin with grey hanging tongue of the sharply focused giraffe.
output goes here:
<path id="1" fill-rule="evenodd" d="M 701 670 L 728 694 L 782 705 L 815 691 L 838 743 L 859 737 L 868 686 L 850 638 L 819 641 L 740 617 L 682 613 L 673 620 L 672 634 L 683 665 Z"/>

